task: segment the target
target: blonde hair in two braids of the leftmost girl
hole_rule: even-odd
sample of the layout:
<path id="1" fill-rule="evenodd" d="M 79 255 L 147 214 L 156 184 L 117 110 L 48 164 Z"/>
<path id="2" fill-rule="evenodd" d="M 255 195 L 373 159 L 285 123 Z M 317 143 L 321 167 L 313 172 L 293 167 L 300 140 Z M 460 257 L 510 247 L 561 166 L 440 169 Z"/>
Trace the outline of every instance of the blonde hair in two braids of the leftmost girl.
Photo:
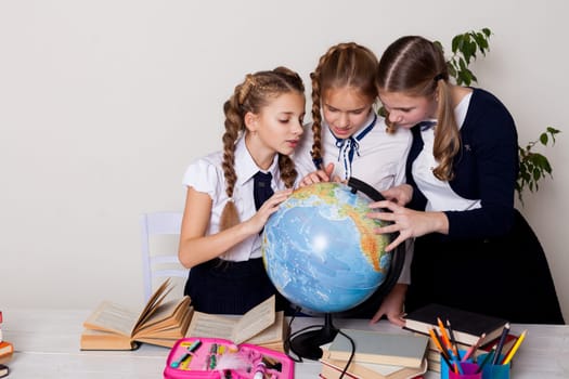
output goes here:
<path id="1" fill-rule="evenodd" d="M 232 200 L 237 175 L 235 173 L 235 141 L 245 132 L 245 115 L 258 114 L 270 101 L 281 94 L 297 92 L 303 95 L 305 86 L 300 76 L 286 68 L 248 74 L 245 80 L 235 87 L 233 95 L 223 104 L 225 132 L 223 133 L 222 169 L 225 177 L 225 193 L 230 201 L 221 213 L 220 230 L 227 230 L 240 223 L 235 204 Z M 281 179 L 287 188 L 293 187 L 297 171 L 287 155 L 279 154 Z"/>

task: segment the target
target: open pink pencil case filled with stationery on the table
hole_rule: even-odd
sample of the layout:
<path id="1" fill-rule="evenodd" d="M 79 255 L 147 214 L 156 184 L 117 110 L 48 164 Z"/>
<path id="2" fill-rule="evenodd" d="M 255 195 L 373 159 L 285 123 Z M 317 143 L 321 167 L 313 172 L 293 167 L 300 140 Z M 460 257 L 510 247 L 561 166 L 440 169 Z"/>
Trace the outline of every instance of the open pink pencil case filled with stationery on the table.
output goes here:
<path id="1" fill-rule="evenodd" d="M 182 338 L 170 350 L 165 379 L 293 379 L 288 355 L 249 343 L 221 338 Z"/>

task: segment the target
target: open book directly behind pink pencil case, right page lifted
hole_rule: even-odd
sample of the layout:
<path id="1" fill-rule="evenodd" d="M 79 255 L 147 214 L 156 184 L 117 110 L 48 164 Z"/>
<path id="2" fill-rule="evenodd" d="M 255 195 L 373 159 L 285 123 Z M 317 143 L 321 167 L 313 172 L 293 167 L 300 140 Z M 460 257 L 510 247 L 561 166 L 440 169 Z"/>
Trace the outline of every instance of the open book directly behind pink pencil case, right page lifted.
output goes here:
<path id="1" fill-rule="evenodd" d="M 286 322 L 283 312 L 275 312 L 274 296 L 243 316 L 220 316 L 194 312 L 185 337 L 222 338 L 284 351 Z"/>

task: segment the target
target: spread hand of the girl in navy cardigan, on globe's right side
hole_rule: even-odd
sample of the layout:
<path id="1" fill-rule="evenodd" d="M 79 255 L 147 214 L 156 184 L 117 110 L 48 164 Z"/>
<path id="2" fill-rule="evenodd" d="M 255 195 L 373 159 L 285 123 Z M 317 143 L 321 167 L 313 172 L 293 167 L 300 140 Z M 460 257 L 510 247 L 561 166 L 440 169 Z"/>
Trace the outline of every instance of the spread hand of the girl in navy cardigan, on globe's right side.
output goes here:
<path id="1" fill-rule="evenodd" d="M 393 250 L 408 238 L 419 237 L 428 233 L 449 234 L 449 219 L 444 212 L 422 212 L 401 207 L 393 201 L 383 200 L 370 204 L 372 209 L 387 209 L 391 212 L 371 212 L 367 217 L 391 222 L 386 226 L 375 227 L 377 234 L 399 233 L 385 251 Z"/>

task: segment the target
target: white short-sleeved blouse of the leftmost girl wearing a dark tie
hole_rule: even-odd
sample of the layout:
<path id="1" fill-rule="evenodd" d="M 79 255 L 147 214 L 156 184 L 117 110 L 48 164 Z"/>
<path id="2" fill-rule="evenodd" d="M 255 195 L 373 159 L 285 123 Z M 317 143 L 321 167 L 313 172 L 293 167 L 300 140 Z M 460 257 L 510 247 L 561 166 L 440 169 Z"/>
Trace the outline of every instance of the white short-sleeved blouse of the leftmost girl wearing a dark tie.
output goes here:
<path id="1" fill-rule="evenodd" d="M 223 152 L 207 155 L 191 164 L 183 177 L 184 186 L 206 193 L 211 198 L 211 215 L 206 235 L 219 233 L 221 212 L 223 211 L 225 202 L 229 200 L 225 193 L 225 177 L 221 168 Z M 285 190 L 285 185 L 281 181 L 277 160 L 279 156 L 275 156 L 269 170 L 264 171 L 271 172 L 273 175 L 271 180 L 273 191 Z M 247 151 L 245 138 L 242 136 L 235 145 L 235 173 L 237 181 L 233 190 L 233 200 L 235 201 L 241 221 L 250 219 L 257 212 L 253 197 L 253 177 L 259 170 L 259 167 L 255 164 Z M 261 237 L 258 234 L 247 237 L 228 252 L 220 256 L 221 259 L 228 261 L 246 261 L 260 257 Z"/>

